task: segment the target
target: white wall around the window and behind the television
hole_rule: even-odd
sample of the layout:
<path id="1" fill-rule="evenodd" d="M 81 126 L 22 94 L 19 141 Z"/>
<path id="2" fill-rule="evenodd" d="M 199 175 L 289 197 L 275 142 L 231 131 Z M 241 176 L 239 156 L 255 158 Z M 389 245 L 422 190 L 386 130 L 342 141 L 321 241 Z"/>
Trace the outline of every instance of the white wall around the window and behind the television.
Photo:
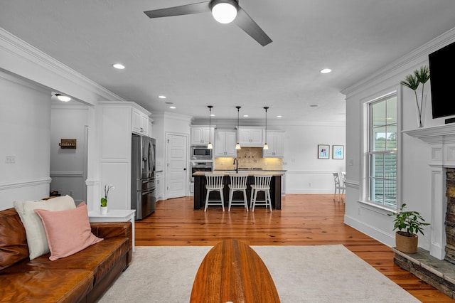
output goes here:
<path id="1" fill-rule="evenodd" d="M 385 66 L 378 73 L 360 83 L 348 87 L 343 93 L 346 97 L 346 215 L 345 223 L 380 240 L 395 246 L 395 232 L 392 231 L 390 211 L 377 208 L 365 202 L 365 158 L 363 154 L 363 136 L 366 128 L 363 124 L 365 102 L 381 95 L 397 91 L 398 101 L 398 201 L 406 203 L 407 209 L 419 211 L 429 221 L 431 214 L 431 174 L 429 161 L 431 149 L 419 139 L 402 134 L 402 130 L 416 129 L 417 117 L 412 90 L 400 85 L 405 76 L 422 65 L 428 65 L 428 54 L 455 41 L 455 28 L 435 38 L 424 46 Z M 430 79 L 431 83 L 431 79 Z M 430 85 L 427 83 L 427 108 L 424 127 L 444 124 L 444 119 L 432 119 Z M 352 165 L 350 165 L 352 163 Z M 425 235 L 419 235 L 419 246 L 429 250 L 431 226 L 424 229 Z"/>

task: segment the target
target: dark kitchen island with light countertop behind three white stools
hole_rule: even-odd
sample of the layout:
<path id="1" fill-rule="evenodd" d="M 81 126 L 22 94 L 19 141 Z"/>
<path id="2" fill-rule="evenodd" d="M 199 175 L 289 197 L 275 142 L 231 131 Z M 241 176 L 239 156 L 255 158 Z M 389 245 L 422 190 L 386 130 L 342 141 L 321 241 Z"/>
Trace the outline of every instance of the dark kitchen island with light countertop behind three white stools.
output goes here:
<path id="1" fill-rule="evenodd" d="M 235 173 L 235 171 L 214 171 L 215 174 L 224 174 L 225 177 L 223 178 L 223 183 L 225 185 L 223 193 L 224 193 L 224 201 L 225 206 L 227 207 L 229 204 L 229 184 L 230 184 L 230 177 L 229 174 Z M 213 173 L 205 173 L 203 171 L 196 171 L 193 174 L 194 177 L 194 209 L 200 209 L 205 206 L 205 195 L 207 194 L 207 190 L 205 189 L 205 174 L 213 174 Z M 250 196 L 251 196 L 251 186 L 250 184 L 255 183 L 254 175 L 272 175 L 272 181 L 270 182 L 270 196 L 272 198 L 272 208 L 273 209 L 282 209 L 282 176 L 284 172 L 280 171 L 257 171 L 257 170 L 242 170 L 240 171 L 241 174 L 248 174 L 248 181 L 247 181 L 247 199 L 248 199 L 248 206 L 250 206 Z M 260 195 L 261 193 L 259 193 Z M 238 195 L 238 196 L 237 196 Z M 242 199 L 241 192 L 234 193 L 234 200 L 241 200 Z M 258 199 L 263 200 L 264 197 L 258 195 Z M 233 208 L 234 206 L 232 206 Z M 243 208 L 243 206 L 241 206 Z"/>

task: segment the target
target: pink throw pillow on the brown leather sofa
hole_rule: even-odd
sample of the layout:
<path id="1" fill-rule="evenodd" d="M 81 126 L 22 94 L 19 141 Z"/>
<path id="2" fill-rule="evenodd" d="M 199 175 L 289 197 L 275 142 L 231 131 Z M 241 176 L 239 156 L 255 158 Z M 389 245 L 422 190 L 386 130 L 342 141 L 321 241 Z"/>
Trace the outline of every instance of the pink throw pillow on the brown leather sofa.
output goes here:
<path id="1" fill-rule="evenodd" d="M 85 202 L 68 211 L 35 209 L 35 212 L 43 221 L 51 261 L 73 255 L 103 240 L 92 234 Z"/>

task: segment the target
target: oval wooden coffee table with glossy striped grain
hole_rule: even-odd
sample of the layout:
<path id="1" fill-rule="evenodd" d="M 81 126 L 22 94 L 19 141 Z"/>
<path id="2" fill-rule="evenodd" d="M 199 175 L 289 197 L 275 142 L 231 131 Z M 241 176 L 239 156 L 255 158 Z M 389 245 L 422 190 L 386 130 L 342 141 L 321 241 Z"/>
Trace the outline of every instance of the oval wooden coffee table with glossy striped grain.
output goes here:
<path id="1" fill-rule="evenodd" d="M 262 259 L 245 243 L 223 240 L 200 264 L 190 302 L 279 302 Z"/>

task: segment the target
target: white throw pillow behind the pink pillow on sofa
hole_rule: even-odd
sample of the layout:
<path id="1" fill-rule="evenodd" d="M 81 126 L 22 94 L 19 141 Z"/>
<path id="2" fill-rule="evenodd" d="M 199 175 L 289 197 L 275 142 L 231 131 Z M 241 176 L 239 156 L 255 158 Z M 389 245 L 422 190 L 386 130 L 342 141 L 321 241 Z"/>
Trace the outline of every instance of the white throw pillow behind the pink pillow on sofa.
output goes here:
<path id="1" fill-rule="evenodd" d="M 48 238 L 45 236 L 43 222 L 34 210 L 66 211 L 76 208 L 76 205 L 73 198 L 67 195 L 46 201 L 14 201 L 14 208 L 16 208 L 23 227 L 26 229 L 28 252 L 30 260 L 33 260 L 49 252 Z"/>

